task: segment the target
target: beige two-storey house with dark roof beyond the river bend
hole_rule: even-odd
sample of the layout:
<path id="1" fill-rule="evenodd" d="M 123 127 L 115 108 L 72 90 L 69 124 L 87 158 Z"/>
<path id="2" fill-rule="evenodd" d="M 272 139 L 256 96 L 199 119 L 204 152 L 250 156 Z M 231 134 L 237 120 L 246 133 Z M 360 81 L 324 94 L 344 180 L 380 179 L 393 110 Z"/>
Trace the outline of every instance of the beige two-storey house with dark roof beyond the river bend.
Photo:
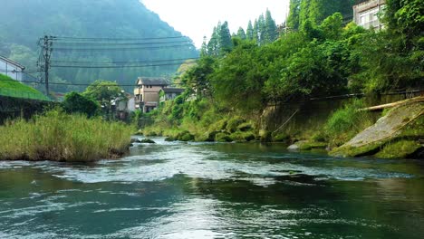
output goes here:
<path id="1" fill-rule="evenodd" d="M 135 108 L 148 113 L 159 106 L 159 91 L 169 86 L 163 78 L 139 77 L 134 89 Z"/>

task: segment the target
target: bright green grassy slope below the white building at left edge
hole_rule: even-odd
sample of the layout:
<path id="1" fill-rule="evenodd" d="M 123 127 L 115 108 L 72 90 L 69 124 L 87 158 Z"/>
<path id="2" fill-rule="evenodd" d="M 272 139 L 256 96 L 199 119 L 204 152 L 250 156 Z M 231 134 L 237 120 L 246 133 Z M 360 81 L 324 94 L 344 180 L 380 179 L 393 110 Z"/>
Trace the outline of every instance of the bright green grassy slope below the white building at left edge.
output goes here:
<path id="1" fill-rule="evenodd" d="M 19 81 L 14 81 L 12 78 L 4 74 L 0 74 L 0 96 L 50 101 L 50 99 L 43 95 L 42 92 L 24 85 Z"/>

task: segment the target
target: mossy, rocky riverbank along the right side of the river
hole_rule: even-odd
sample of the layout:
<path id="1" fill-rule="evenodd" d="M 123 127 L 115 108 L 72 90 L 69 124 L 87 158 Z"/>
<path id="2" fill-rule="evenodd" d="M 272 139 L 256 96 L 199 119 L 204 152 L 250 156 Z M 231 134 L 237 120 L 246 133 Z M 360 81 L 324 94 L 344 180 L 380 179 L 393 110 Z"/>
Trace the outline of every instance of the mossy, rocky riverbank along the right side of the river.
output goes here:
<path id="1" fill-rule="evenodd" d="M 186 103 L 187 104 L 187 103 Z M 189 102 L 187 109 L 192 109 L 196 103 Z M 194 105 L 194 106 L 193 106 Z M 175 105 L 174 105 L 175 107 Z M 284 124 L 275 130 L 264 127 L 263 121 L 266 119 L 246 119 L 239 115 L 226 113 L 219 114 L 217 110 L 204 108 L 207 110 L 198 111 L 198 118 L 183 117 L 179 124 L 174 124 L 170 120 L 160 118 L 160 115 L 167 113 L 167 108 L 163 108 L 156 114 L 156 123 L 140 133 L 145 136 L 164 136 L 167 140 L 179 141 L 217 141 L 217 142 L 281 142 L 292 150 L 327 149 L 331 155 L 344 157 L 378 156 L 379 158 L 420 158 L 422 157 L 422 142 L 424 138 L 424 123 L 422 119 L 422 100 L 405 101 L 394 109 L 387 109 L 381 113 L 371 113 L 362 110 L 364 104 L 361 100 L 352 100 L 339 110 L 335 110 L 329 118 L 321 123 L 313 125 L 313 129 L 280 130 L 284 124 L 291 120 L 287 116 Z M 168 107 L 172 109 L 172 107 Z M 184 105 L 181 115 L 185 115 Z M 198 108 L 197 108 L 198 109 Z M 414 110 L 411 110 L 414 109 Z M 294 112 L 295 113 L 295 112 Z M 400 119 L 401 118 L 401 119 Z M 158 120 L 160 119 L 160 120 Z M 384 120 L 382 120 L 384 119 Z M 408 119 L 408 120 L 406 120 Z M 368 134 L 369 141 L 379 141 L 373 144 L 374 147 L 368 149 L 352 150 L 352 147 L 345 146 L 351 139 L 360 135 L 363 130 L 371 128 L 375 123 L 391 125 L 392 130 L 405 127 L 400 136 L 380 137 L 381 132 L 371 132 Z M 398 122 L 396 124 L 395 122 Z M 399 123 L 402 123 L 400 124 Z M 261 125 L 262 123 L 262 125 Z M 294 123 L 294 125 L 296 125 Z M 299 127 L 297 125 L 297 127 Z M 377 126 L 377 128 L 384 126 Z M 264 129 L 265 128 L 265 129 Z M 302 128 L 302 127 L 300 127 Z M 346 150 L 350 148 L 350 150 Z M 356 152 L 356 153 L 353 153 Z M 360 152 L 360 153 L 358 153 Z"/>

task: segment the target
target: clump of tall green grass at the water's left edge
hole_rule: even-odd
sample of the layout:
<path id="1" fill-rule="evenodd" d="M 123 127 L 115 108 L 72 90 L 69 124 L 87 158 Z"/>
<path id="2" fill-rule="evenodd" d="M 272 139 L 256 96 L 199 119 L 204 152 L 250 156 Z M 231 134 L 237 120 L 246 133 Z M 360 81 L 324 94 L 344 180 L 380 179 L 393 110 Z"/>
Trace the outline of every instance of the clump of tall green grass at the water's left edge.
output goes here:
<path id="1" fill-rule="evenodd" d="M 87 119 L 51 110 L 29 121 L 0 127 L 0 159 L 94 161 L 117 158 L 130 145 L 133 129 L 122 123 Z"/>

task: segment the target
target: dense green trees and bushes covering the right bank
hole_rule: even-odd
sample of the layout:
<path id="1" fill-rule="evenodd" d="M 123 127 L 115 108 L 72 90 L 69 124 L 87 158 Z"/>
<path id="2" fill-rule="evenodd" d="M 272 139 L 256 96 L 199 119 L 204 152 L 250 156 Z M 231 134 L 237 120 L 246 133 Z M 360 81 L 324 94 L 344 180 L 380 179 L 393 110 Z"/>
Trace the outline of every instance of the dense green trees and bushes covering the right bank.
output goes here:
<path id="1" fill-rule="evenodd" d="M 215 140 L 247 140 L 253 132 L 256 139 L 283 140 L 287 136 L 260 130 L 269 105 L 342 93 L 422 89 L 422 5 L 387 2 L 381 32 L 343 24 L 338 12 L 352 9 L 352 1 L 292 1 L 287 23 L 291 27 L 275 41 L 261 42 L 261 35 L 269 34 L 251 31 L 248 24 L 246 32 L 239 29 L 228 42 L 227 23 L 218 24 L 197 65 L 178 76 L 188 88 L 186 94 L 154 113 L 157 124 L 144 132 Z M 250 33 L 254 35 L 247 36 Z M 354 101 L 334 113 L 322 128 L 328 133 L 313 138 L 338 146 L 369 126 L 373 119 L 359 113 L 360 106 Z M 246 124 L 250 126 L 244 128 Z M 246 138 L 238 137 L 241 134 Z"/>

